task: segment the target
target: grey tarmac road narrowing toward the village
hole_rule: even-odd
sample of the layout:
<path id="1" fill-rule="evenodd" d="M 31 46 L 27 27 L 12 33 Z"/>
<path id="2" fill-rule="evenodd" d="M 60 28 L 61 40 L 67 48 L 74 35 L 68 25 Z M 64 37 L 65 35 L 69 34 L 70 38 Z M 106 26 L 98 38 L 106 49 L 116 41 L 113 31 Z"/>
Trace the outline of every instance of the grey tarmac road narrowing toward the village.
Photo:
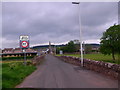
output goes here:
<path id="1" fill-rule="evenodd" d="M 17 88 L 117 88 L 117 80 L 65 63 L 52 55 Z"/>

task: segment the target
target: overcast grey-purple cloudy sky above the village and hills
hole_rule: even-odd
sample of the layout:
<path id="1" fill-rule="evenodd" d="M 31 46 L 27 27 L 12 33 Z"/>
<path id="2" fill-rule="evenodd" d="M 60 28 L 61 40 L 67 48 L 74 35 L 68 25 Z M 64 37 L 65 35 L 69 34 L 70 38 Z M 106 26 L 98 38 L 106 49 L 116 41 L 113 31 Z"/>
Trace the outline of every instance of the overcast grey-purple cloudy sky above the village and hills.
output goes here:
<path id="1" fill-rule="evenodd" d="M 117 2 L 82 2 L 81 28 L 85 43 L 99 43 L 102 33 L 118 23 Z M 79 39 L 79 9 L 71 2 L 3 2 L 2 48 L 19 47 L 29 35 L 30 46 Z"/>

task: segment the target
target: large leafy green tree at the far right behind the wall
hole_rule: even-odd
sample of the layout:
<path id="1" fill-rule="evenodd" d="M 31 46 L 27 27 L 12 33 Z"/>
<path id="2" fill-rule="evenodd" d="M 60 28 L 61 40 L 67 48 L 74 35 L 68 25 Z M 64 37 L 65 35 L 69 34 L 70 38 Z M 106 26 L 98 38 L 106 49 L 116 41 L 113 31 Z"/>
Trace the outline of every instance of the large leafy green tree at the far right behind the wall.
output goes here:
<path id="1" fill-rule="evenodd" d="M 103 33 L 100 51 L 103 54 L 112 54 L 115 61 L 115 54 L 120 54 L 120 25 L 113 25 Z"/>

